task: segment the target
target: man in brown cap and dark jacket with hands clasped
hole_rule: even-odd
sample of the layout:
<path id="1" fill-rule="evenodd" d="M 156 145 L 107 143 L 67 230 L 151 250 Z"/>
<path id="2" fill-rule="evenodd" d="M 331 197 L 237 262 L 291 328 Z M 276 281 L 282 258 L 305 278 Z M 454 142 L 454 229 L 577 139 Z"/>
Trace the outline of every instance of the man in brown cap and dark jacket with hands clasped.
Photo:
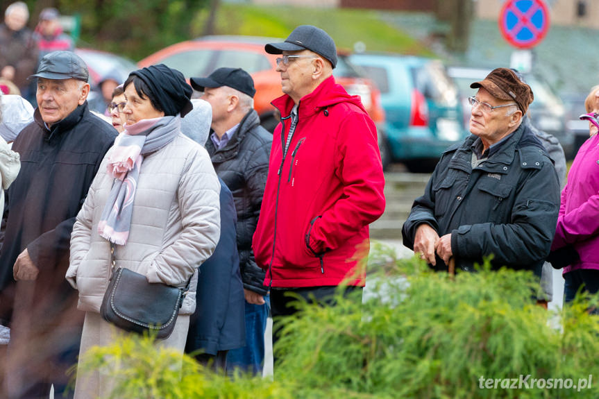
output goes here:
<path id="1" fill-rule="evenodd" d="M 403 243 L 436 270 L 473 271 L 493 255 L 541 275 L 559 210 L 559 182 L 541 142 L 522 124 L 534 99 L 514 71 L 498 68 L 470 87 L 471 136 L 441 156 L 403 225 Z"/>

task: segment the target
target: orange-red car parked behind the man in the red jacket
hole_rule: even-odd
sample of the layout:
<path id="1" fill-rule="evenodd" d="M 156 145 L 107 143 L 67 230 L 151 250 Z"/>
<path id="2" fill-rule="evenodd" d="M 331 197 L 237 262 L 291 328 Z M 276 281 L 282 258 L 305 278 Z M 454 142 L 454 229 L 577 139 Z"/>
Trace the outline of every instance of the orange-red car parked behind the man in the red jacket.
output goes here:
<path id="1" fill-rule="evenodd" d="M 280 74 L 276 71 L 278 56 L 264 51 L 264 45 L 280 39 L 248 36 L 208 36 L 173 44 L 148 56 L 137 63 L 139 67 L 164 64 L 178 69 L 189 80 L 190 77 L 210 75 L 220 67 L 239 67 L 251 74 L 256 89 L 254 108 L 260 115 L 262 126 L 271 132 L 278 124 L 278 115 L 271 101 L 282 95 Z M 337 67 L 333 69 L 335 80 L 349 94 L 362 98 L 371 118 L 379 123 L 385 119 L 380 105 L 380 93 L 368 78 L 362 77 L 344 54 L 339 54 Z"/>

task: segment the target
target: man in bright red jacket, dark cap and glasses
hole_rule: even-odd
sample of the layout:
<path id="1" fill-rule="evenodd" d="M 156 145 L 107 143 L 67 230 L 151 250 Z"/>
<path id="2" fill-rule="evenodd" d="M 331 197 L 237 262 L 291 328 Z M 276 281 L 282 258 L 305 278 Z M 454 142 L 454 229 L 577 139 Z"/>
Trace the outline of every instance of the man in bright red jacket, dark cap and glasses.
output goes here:
<path id="1" fill-rule="evenodd" d="M 277 71 L 285 94 L 273 101 L 281 122 L 253 250 L 267 269 L 276 332 L 278 316 L 296 311 L 287 307 L 289 291 L 327 303 L 341 283 L 350 291 L 364 287 L 369 224 L 385 210 L 385 177 L 375 124 L 360 98 L 332 76 L 332 38 L 303 25 L 265 49 L 282 54 Z"/>

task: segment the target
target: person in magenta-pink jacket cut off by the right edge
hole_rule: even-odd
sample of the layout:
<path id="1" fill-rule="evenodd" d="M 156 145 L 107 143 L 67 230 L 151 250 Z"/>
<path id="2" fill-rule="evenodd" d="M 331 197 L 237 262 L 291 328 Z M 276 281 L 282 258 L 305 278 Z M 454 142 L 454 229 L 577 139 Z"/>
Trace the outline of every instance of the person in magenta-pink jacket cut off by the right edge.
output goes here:
<path id="1" fill-rule="evenodd" d="M 589 294 L 599 291 L 599 135 L 594 117 L 599 112 L 597 89 L 593 87 L 584 102 L 589 114 L 581 119 L 589 119 L 590 137 L 580 146 L 568 173 L 551 245 L 552 256 L 566 265 L 566 303 L 575 298 L 581 287 Z"/>

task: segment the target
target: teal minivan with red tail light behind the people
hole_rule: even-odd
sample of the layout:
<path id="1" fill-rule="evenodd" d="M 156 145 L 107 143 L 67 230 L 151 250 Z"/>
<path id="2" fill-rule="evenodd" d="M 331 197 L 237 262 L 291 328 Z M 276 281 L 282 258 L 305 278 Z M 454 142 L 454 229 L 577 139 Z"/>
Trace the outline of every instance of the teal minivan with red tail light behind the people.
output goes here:
<path id="1" fill-rule="evenodd" d="M 355 53 L 349 60 L 380 90 L 383 164 L 402 162 L 409 171 L 430 172 L 448 146 L 469 135 L 459 92 L 441 61 L 382 53 Z"/>

